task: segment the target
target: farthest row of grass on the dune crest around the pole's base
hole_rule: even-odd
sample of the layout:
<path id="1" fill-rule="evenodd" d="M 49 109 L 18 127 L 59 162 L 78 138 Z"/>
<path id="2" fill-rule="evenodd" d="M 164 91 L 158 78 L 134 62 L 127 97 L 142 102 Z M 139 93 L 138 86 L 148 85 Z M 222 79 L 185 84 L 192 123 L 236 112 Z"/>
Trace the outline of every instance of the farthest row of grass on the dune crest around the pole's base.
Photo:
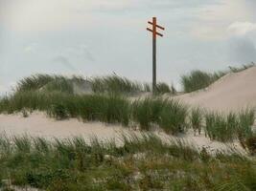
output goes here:
<path id="1" fill-rule="evenodd" d="M 85 87 L 84 87 L 85 85 Z M 16 93 L 20 92 L 62 92 L 76 94 L 74 87 L 81 91 L 92 91 L 95 94 L 133 95 L 136 93 L 151 92 L 151 85 L 131 81 L 116 74 L 104 77 L 85 79 L 82 76 L 66 77 L 63 75 L 35 74 L 18 82 Z M 85 89 L 85 90 L 83 90 Z M 87 90 L 86 90 L 87 89 Z M 157 94 L 175 94 L 175 87 L 160 82 L 156 88 Z"/>

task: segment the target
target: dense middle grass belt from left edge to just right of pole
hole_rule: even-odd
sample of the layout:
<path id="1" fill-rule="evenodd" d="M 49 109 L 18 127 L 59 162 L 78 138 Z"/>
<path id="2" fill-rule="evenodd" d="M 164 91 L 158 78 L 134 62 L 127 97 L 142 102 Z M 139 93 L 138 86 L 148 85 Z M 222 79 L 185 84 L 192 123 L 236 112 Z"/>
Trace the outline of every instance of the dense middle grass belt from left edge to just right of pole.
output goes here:
<path id="1" fill-rule="evenodd" d="M 184 132 L 187 116 L 186 106 L 175 100 L 152 97 L 131 103 L 116 94 L 76 96 L 29 91 L 16 93 L 0 101 L 0 113 L 12 114 L 24 110 L 46 112 L 57 119 L 77 117 L 84 121 L 122 123 L 125 126 L 135 121 L 144 130 L 156 124 L 172 134 Z"/>

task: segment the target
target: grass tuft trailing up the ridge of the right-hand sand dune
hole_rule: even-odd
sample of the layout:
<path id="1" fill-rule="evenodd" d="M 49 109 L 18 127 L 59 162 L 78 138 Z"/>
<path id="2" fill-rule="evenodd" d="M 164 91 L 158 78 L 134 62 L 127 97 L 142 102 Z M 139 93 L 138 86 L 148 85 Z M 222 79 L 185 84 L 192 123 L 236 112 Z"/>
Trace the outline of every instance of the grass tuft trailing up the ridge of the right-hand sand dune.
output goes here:
<path id="1" fill-rule="evenodd" d="M 184 74 L 181 76 L 181 85 L 185 93 L 191 93 L 208 87 L 225 74 L 238 73 L 253 66 L 255 66 L 254 63 L 244 65 L 240 68 L 229 67 L 228 71 L 221 71 L 213 74 L 198 70 L 192 71 L 190 74 Z"/>

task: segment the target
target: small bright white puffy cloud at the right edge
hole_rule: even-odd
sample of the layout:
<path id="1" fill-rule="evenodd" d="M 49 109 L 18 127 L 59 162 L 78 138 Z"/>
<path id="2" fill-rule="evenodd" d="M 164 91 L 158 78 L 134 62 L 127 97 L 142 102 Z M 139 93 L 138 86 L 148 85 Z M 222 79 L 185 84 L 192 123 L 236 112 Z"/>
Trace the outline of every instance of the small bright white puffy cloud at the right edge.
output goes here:
<path id="1" fill-rule="evenodd" d="M 227 30 L 232 34 L 243 36 L 248 32 L 256 31 L 256 23 L 234 22 L 230 26 L 228 26 Z"/>

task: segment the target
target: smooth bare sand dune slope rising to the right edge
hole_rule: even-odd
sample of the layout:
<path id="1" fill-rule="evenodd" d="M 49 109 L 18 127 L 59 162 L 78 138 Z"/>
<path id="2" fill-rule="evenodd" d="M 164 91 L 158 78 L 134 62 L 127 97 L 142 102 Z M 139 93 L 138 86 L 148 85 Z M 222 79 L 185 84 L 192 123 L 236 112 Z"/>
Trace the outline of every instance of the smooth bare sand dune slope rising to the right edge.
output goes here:
<path id="1" fill-rule="evenodd" d="M 219 111 L 256 106 L 256 67 L 227 74 L 204 91 L 177 98 L 191 105 Z"/>

